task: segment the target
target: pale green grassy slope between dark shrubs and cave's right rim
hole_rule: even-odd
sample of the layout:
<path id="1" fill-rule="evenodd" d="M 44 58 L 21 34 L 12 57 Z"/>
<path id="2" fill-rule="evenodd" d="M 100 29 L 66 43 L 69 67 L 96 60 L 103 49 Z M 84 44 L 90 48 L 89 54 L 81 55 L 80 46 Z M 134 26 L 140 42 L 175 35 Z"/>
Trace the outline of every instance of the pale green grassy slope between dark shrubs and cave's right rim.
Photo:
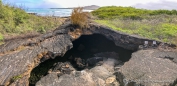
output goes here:
<path id="1" fill-rule="evenodd" d="M 155 39 L 167 43 L 175 43 L 173 40 L 176 38 L 177 34 L 177 24 L 163 21 L 160 22 L 157 20 L 114 19 L 95 21 L 120 32 L 139 35 L 145 38 Z"/>

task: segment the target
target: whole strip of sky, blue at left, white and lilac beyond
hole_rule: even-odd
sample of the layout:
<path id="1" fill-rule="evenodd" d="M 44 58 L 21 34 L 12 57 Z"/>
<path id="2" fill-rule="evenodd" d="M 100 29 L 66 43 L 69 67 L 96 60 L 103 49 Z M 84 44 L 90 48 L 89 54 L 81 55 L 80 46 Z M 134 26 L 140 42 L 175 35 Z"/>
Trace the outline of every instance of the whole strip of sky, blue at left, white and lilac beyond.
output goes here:
<path id="1" fill-rule="evenodd" d="M 177 9 L 177 0 L 2 0 L 27 8 L 98 6 L 133 6 L 144 9 Z"/>

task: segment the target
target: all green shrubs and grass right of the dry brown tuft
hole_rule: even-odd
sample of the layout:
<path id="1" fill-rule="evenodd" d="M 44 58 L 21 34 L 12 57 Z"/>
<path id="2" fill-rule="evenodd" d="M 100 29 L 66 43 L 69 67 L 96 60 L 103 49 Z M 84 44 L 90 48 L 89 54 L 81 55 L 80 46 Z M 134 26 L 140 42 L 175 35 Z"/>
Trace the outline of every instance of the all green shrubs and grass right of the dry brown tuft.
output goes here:
<path id="1" fill-rule="evenodd" d="M 97 23 L 120 32 L 139 35 L 167 43 L 177 37 L 176 10 L 145 10 L 133 7 L 102 7 L 92 14 Z"/>

